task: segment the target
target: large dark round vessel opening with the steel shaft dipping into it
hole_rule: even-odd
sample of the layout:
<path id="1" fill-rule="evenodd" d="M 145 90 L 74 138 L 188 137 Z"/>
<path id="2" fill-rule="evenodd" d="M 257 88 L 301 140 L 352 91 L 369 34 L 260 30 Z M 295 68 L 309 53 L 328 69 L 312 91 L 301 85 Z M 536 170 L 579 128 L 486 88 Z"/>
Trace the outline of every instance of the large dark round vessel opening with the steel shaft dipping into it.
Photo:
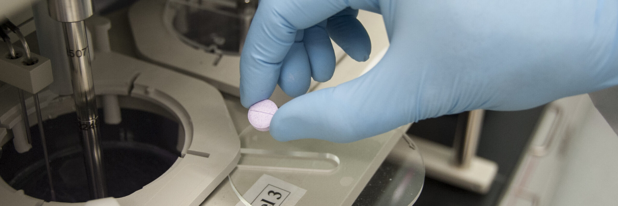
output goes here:
<path id="1" fill-rule="evenodd" d="M 152 103 L 146 107 L 152 111 L 153 106 L 166 113 L 165 109 Z M 135 105 L 130 107 L 136 108 Z M 110 125 L 104 123 L 103 110 L 99 109 L 108 196 L 116 198 L 142 189 L 165 173 L 180 157 L 177 144 L 179 132 L 182 132 L 179 131 L 179 123 L 168 118 L 169 115 L 130 108 L 122 108 L 121 112 L 122 122 Z M 68 113 L 43 123 L 57 202 L 86 202 L 92 199 L 76 118 L 75 113 Z M 38 125 L 30 127 L 30 131 L 30 151 L 17 153 L 12 140 L 2 147 L 0 176 L 14 189 L 51 201 Z"/>

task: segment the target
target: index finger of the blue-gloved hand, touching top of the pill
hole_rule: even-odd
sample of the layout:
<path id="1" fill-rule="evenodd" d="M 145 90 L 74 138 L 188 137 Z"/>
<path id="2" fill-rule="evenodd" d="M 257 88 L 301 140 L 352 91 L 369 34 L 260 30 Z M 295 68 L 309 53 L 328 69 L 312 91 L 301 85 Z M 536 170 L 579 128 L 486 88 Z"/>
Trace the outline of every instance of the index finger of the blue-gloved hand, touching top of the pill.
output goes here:
<path id="1" fill-rule="evenodd" d="M 348 7 L 344 0 L 263 0 L 240 56 L 240 101 L 249 107 L 273 93 L 281 62 L 297 30 L 309 28 Z"/>

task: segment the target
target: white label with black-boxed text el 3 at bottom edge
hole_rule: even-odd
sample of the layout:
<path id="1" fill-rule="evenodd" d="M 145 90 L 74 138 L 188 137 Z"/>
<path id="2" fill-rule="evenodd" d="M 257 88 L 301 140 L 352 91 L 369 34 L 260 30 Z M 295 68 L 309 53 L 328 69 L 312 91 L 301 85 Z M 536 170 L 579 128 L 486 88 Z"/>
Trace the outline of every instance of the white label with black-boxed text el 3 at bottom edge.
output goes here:
<path id="1" fill-rule="evenodd" d="M 294 206 L 305 192 L 306 189 L 263 174 L 242 197 L 252 206 Z M 236 206 L 245 205 L 238 202 Z"/>

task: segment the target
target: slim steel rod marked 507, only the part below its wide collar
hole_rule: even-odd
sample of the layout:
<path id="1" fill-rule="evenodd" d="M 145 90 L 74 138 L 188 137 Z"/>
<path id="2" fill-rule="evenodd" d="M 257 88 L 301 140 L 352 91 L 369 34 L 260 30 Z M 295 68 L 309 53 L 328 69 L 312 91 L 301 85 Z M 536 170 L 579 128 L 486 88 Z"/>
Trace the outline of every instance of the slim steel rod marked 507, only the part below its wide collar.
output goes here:
<path id="1" fill-rule="evenodd" d="M 62 27 L 67 40 L 75 112 L 82 130 L 88 181 L 93 198 L 100 199 L 106 197 L 107 192 L 86 28 L 83 21 L 63 22 Z"/>

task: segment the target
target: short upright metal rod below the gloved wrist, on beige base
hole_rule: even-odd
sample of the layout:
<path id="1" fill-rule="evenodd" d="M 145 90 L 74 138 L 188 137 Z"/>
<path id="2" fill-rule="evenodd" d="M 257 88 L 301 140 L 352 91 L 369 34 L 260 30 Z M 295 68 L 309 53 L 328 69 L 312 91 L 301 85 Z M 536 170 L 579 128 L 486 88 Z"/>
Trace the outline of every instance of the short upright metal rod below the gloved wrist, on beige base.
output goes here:
<path id="1" fill-rule="evenodd" d="M 457 128 L 455 129 L 454 165 L 460 168 L 468 168 L 472 158 L 476 156 L 476 146 L 483 128 L 483 116 L 485 110 L 476 109 L 459 114 Z"/>

